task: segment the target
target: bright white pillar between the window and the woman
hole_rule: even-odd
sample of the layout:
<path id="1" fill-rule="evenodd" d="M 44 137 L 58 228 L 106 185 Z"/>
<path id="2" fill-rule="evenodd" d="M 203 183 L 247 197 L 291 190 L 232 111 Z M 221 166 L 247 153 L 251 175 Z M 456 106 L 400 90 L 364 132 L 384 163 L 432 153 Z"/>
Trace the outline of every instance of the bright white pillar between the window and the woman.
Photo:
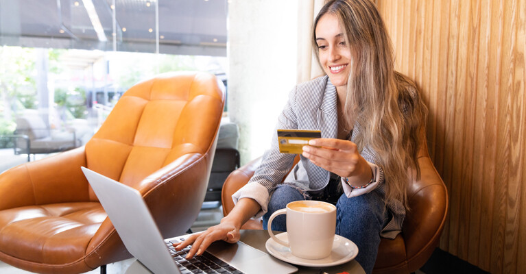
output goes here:
<path id="1" fill-rule="evenodd" d="M 244 164 L 270 147 L 296 85 L 298 0 L 230 1 L 227 54 L 228 114 L 239 125 Z"/>

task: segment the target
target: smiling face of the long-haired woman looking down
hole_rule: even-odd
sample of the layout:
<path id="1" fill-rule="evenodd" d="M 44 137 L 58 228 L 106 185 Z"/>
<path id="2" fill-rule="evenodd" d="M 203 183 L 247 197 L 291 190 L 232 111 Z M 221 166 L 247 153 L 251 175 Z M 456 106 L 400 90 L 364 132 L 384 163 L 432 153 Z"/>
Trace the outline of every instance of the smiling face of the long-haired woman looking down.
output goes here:
<path id="1" fill-rule="evenodd" d="M 344 29 L 335 14 L 324 14 L 315 29 L 322 68 L 338 90 L 345 88 L 350 72 L 351 54 Z"/>

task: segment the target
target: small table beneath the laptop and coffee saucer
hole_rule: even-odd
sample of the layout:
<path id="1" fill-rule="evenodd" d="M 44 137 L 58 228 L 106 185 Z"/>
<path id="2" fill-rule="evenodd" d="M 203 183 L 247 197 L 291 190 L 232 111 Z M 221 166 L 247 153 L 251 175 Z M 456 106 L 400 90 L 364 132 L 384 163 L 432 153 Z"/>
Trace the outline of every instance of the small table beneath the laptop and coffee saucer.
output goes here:
<path id="1" fill-rule="evenodd" d="M 279 233 L 279 232 L 276 232 Z M 268 232 L 266 230 L 241 230 L 241 242 L 245 242 L 247 245 L 250 245 L 251 247 L 254 247 L 256 249 L 259 249 L 265 253 L 267 252 L 267 249 L 265 248 L 265 242 L 267 242 L 268 238 L 270 238 Z M 363 271 L 363 268 L 360 266 L 360 264 L 356 260 L 350 260 L 350 262 L 346 262 L 345 264 L 340 264 L 339 266 L 328 266 L 323 268 L 318 267 L 307 267 L 307 266 L 298 266 L 298 272 L 301 274 L 322 274 L 322 273 L 328 273 L 328 274 L 336 274 L 336 273 L 342 273 L 347 272 L 349 274 L 365 274 L 366 272 Z M 150 273 L 150 271 L 147 271 L 147 269 L 144 268 L 144 266 L 139 263 L 138 261 L 133 262 L 129 267 L 128 270 L 125 272 L 126 274 L 145 274 Z M 250 273 L 247 273 L 250 274 Z"/>

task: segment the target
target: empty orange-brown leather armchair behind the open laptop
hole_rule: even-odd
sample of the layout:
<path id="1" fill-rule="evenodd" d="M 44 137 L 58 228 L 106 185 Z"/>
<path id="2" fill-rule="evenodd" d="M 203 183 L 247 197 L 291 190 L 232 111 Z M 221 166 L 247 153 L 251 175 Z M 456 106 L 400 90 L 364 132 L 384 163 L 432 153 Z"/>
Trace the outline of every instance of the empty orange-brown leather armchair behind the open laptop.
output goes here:
<path id="1" fill-rule="evenodd" d="M 80 166 L 139 190 L 165 238 L 187 231 L 204 200 L 223 105 L 211 74 L 159 75 L 125 92 L 85 147 L 2 173 L 0 260 L 82 273 L 131 258 Z"/>

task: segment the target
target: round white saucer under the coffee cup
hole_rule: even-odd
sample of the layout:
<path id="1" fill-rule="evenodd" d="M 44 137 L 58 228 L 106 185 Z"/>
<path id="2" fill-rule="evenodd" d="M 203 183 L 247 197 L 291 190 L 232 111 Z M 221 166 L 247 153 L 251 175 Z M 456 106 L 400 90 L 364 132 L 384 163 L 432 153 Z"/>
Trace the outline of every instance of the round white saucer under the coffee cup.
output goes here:
<path id="1" fill-rule="evenodd" d="M 287 242 L 287 232 L 277 234 L 276 238 Z M 265 247 L 270 255 L 279 260 L 291 264 L 298 264 L 300 266 L 335 266 L 348 262 L 358 255 L 358 247 L 355 243 L 339 235 L 334 236 L 333 251 L 331 252 L 331 255 L 327 258 L 317 260 L 296 257 L 292 255 L 288 247 L 278 244 L 273 238 L 267 240 Z"/>

